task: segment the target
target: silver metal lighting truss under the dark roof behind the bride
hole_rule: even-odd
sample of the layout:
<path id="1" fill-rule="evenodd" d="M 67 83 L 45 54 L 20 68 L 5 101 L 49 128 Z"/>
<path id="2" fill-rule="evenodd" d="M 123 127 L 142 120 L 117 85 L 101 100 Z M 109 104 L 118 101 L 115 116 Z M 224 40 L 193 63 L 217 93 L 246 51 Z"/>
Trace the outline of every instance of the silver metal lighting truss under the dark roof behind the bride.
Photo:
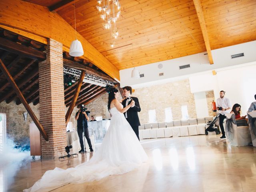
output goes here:
<path id="1" fill-rule="evenodd" d="M 73 69 L 73 68 L 63 68 L 63 72 L 64 74 L 72 74 L 76 77 L 80 77 L 81 75 L 81 71 L 80 70 L 76 70 L 76 69 Z M 88 74 L 86 73 L 84 75 L 84 82 L 86 82 L 86 80 L 88 80 L 88 82 L 90 84 L 96 84 L 96 85 L 101 85 L 101 86 L 106 86 L 106 85 L 110 85 L 110 86 L 114 86 L 114 83 L 109 81 L 109 80 L 105 80 L 105 79 L 102 79 L 102 78 L 99 78 L 97 76 L 94 76 L 92 74 Z"/>

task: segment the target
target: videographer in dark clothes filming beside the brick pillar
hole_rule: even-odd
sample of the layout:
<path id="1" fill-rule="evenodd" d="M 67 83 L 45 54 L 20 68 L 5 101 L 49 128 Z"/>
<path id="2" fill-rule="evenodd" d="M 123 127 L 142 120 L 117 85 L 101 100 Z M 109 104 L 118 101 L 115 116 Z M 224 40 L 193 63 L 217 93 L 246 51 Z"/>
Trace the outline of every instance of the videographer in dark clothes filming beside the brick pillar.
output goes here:
<path id="1" fill-rule="evenodd" d="M 78 112 L 76 112 L 76 120 L 77 120 L 77 133 L 79 136 L 79 141 L 80 141 L 80 146 L 81 146 L 81 150 L 79 151 L 79 153 L 86 152 L 86 148 L 84 147 L 85 141 L 83 141 L 83 132 L 84 132 L 84 136 L 88 142 L 88 145 L 90 147 L 90 152 L 92 152 L 93 151 L 92 143 L 90 140 L 88 124 L 87 124 L 89 117 L 85 112 L 85 110 L 87 108 L 85 108 L 84 105 L 80 105 L 80 106 L 78 106 L 78 108 L 80 108 L 80 109 L 78 110 Z"/>

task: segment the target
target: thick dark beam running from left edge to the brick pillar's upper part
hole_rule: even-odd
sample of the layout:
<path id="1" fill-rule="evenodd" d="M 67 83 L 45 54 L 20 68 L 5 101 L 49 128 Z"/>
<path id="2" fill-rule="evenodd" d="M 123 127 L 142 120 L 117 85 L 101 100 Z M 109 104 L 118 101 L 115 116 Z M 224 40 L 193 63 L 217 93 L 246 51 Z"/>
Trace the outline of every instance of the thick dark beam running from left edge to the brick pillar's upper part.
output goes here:
<path id="1" fill-rule="evenodd" d="M 12 52 L 18 55 L 23 55 L 31 59 L 38 59 L 40 61 L 46 60 L 46 53 L 32 49 L 16 42 L 7 40 L 0 37 L 0 48 L 8 52 Z"/>

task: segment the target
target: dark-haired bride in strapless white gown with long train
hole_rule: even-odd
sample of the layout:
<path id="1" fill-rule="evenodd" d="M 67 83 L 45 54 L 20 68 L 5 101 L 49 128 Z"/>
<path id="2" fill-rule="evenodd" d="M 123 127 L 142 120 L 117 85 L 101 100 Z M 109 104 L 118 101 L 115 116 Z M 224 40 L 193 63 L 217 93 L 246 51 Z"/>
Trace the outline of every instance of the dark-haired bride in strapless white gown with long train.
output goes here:
<path id="1" fill-rule="evenodd" d="M 24 192 L 47 192 L 69 183 L 91 182 L 109 175 L 124 174 L 147 161 L 148 156 L 123 114 L 134 101 L 123 108 L 117 99 L 118 90 L 108 88 L 107 91 L 110 126 L 96 154 L 88 162 L 74 168 L 64 170 L 56 167 L 46 171 L 40 180 Z"/>

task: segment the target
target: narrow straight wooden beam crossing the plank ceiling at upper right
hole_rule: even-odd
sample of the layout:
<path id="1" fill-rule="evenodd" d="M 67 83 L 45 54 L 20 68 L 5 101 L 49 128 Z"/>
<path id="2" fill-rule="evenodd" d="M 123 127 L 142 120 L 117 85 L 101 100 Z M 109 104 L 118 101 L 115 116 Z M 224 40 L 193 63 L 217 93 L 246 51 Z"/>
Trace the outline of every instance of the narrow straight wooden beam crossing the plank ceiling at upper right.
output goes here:
<path id="1" fill-rule="evenodd" d="M 207 50 L 207 53 L 208 53 L 208 58 L 209 58 L 210 64 L 213 64 L 211 46 L 210 46 L 208 33 L 207 33 L 207 30 L 206 30 L 206 23 L 205 23 L 205 20 L 204 20 L 204 13 L 203 13 L 203 10 L 202 10 L 201 2 L 200 2 L 200 0 L 193 0 L 193 2 L 194 2 L 194 5 L 195 5 L 195 8 L 196 8 L 196 14 L 198 16 L 198 20 L 199 20 L 199 23 L 200 23 L 202 34 L 203 34 L 203 37 L 204 37 L 204 43 L 205 43 L 206 50 Z"/>

